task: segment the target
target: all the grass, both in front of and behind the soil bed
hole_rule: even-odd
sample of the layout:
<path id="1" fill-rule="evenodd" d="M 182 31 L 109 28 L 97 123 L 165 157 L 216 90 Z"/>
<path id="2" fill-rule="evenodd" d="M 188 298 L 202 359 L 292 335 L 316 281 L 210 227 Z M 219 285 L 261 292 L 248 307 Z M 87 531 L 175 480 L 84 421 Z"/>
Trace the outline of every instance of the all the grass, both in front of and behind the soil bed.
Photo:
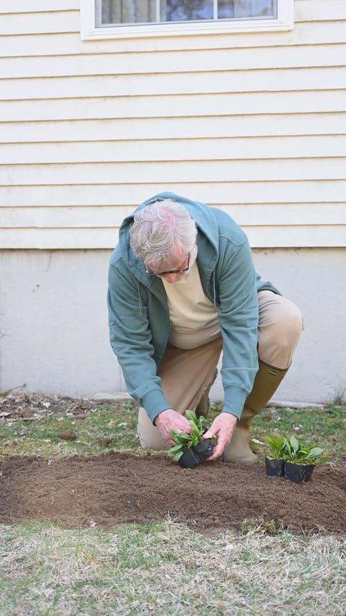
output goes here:
<path id="1" fill-rule="evenodd" d="M 210 421 L 221 407 L 212 405 Z M 0 421 L 0 452 L 49 458 L 141 452 L 136 407 L 105 404 L 86 413 L 12 415 Z M 252 423 L 260 459 L 266 434 L 318 444 L 328 464 L 345 454 L 345 409 L 267 409 Z M 75 441 L 57 432 L 74 430 Z M 344 431 L 345 432 L 345 431 Z M 109 439 L 114 439 L 110 441 Z M 266 525 L 201 535 L 179 520 L 104 531 L 58 525 L 0 525 L 0 616 L 338 616 L 345 613 L 343 540 L 273 536 Z"/>

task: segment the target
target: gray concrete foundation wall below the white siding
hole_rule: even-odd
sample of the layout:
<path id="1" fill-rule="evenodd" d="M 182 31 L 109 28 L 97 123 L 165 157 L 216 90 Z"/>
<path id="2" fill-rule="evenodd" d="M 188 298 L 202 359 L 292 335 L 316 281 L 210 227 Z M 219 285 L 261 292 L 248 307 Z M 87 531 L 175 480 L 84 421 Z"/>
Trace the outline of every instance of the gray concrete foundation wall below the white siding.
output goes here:
<path id="1" fill-rule="evenodd" d="M 107 328 L 109 250 L 0 252 L 0 390 L 88 397 L 125 391 Z M 305 331 L 274 399 L 324 402 L 346 385 L 346 250 L 254 249 L 298 304 Z M 222 398 L 219 379 L 212 398 Z"/>

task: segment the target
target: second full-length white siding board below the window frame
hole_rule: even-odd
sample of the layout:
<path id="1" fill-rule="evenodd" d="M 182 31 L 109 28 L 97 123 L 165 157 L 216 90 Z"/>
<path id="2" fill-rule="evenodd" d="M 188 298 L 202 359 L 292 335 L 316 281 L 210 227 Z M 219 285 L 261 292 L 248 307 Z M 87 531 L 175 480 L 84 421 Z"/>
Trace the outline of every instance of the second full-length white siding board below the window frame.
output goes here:
<path id="1" fill-rule="evenodd" d="M 346 56 L 346 46 L 345 46 Z M 98 98 L 182 94 L 229 94 L 242 92 L 330 91 L 345 89 L 345 67 L 307 69 L 261 69 L 248 71 L 197 71 L 185 73 L 148 73 L 146 75 L 3 79 L 3 100 Z"/>

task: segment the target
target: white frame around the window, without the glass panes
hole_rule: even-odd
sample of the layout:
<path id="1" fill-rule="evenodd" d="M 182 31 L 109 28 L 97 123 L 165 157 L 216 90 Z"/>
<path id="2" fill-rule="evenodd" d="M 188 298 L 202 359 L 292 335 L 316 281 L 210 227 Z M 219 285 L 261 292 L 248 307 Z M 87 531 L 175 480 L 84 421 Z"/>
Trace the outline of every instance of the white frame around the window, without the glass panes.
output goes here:
<path id="1" fill-rule="evenodd" d="M 95 0 L 81 0 L 82 40 L 163 37 L 237 32 L 293 30 L 293 0 L 277 0 L 276 19 L 220 19 L 214 21 L 165 22 L 161 24 L 119 24 L 95 26 Z"/>

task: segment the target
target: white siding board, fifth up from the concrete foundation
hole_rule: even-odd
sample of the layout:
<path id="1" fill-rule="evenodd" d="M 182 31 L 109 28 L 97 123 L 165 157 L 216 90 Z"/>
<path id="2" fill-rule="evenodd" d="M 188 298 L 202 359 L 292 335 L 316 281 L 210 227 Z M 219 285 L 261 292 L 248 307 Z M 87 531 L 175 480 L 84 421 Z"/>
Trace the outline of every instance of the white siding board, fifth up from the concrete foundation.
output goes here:
<path id="1" fill-rule="evenodd" d="M 344 127 L 346 131 L 346 125 Z M 169 141 L 169 143 L 167 143 Z M 152 161 L 203 161 L 242 159 L 319 159 L 343 157 L 346 135 L 301 137 L 218 137 L 216 139 L 125 139 L 119 141 L 78 141 L 75 143 L 11 143 L 0 148 L 0 164 L 64 164 L 80 162 L 113 163 Z M 300 162 L 298 161 L 298 164 Z M 1 173 L 1 171 L 0 171 Z"/>

